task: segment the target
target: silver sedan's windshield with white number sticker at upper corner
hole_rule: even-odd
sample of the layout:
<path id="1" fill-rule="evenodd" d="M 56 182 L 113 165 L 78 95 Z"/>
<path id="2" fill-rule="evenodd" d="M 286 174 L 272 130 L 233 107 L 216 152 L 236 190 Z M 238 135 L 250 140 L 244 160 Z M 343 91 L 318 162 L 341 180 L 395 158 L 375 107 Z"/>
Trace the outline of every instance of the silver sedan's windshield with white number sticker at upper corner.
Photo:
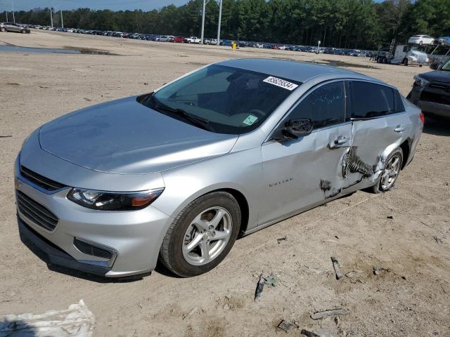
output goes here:
<path id="1" fill-rule="evenodd" d="M 257 128 L 300 83 L 269 74 L 210 65 L 139 101 L 216 133 Z"/>

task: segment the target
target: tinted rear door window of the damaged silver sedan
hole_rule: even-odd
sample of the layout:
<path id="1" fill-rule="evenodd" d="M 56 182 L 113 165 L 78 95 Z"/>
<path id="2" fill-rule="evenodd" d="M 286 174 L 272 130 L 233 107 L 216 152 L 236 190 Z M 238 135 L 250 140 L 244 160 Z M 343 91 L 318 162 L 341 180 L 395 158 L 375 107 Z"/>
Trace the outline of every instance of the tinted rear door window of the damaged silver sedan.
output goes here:
<path id="1" fill-rule="evenodd" d="M 392 114 L 394 91 L 388 86 L 350 81 L 352 118 L 373 118 Z"/>

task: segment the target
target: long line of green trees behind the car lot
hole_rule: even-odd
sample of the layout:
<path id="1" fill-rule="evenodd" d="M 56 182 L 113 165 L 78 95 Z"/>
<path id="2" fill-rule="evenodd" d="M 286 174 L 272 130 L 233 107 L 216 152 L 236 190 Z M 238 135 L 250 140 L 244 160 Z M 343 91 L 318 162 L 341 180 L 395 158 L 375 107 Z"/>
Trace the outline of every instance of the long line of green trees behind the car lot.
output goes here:
<path id="1" fill-rule="evenodd" d="M 198 36 L 202 4 L 190 0 L 153 11 L 79 8 L 63 11 L 63 20 L 72 28 Z M 212 0 L 206 7 L 205 37 L 217 36 L 218 17 L 219 5 Z M 50 9 L 15 12 L 15 20 L 50 25 Z M 60 26 L 58 12 L 53 24 Z M 321 40 L 321 46 L 375 49 L 414 34 L 450 35 L 450 0 L 223 0 L 223 39 L 300 45 Z"/>

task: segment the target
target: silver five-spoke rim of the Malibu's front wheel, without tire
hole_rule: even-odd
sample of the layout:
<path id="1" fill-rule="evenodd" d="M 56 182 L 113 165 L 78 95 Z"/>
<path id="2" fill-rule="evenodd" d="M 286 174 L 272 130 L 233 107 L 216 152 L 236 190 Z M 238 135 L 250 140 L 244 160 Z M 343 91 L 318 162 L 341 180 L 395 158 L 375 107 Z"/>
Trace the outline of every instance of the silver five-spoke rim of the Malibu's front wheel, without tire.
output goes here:
<path id="1" fill-rule="evenodd" d="M 183 240 L 183 256 L 191 265 L 205 265 L 225 249 L 233 222 L 226 209 L 215 206 L 202 211 L 188 226 Z"/>

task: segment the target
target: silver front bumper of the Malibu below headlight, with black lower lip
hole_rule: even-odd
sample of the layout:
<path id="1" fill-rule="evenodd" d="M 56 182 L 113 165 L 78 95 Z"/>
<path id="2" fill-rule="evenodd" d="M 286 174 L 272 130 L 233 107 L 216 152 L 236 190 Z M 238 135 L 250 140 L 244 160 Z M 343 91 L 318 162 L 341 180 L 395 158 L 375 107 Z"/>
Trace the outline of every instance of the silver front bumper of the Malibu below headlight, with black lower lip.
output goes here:
<path id="1" fill-rule="evenodd" d="M 15 168 L 16 190 L 51 211 L 58 218 L 48 230 L 17 208 L 19 230 L 44 251 L 49 260 L 75 270 L 105 277 L 127 277 L 155 269 L 162 239 L 172 218 L 151 205 L 138 211 L 96 211 L 68 200 L 69 188 L 43 191 Z M 16 197 L 17 198 L 17 197 Z M 102 258 L 80 251 L 75 238 L 112 251 Z"/>

